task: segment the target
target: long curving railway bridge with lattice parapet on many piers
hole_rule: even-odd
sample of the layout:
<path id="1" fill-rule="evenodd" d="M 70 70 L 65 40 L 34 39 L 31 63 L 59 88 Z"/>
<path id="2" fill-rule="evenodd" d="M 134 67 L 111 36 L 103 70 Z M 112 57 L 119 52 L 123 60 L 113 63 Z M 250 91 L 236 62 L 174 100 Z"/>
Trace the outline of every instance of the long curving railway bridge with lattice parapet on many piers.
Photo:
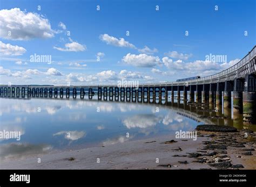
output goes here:
<path id="1" fill-rule="evenodd" d="M 84 86 L 54 86 L 54 85 L 0 85 L 0 94 L 16 93 L 24 97 L 31 95 L 46 94 L 54 97 L 80 98 L 85 95 L 92 99 L 97 93 L 98 99 L 123 98 L 129 101 L 142 102 L 144 99 L 152 100 L 152 103 L 161 102 L 161 99 L 168 100 L 169 93 L 174 99 L 174 92 L 177 99 L 183 98 L 196 103 L 210 103 L 217 108 L 231 107 L 231 92 L 233 92 L 233 112 L 242 113 L 244 121 L 256 124 L 256 46 L 234 66 L 217 74 L 198 78 L 196 80 L 179 82 L 161 82 L 138 84 L 136 87 L 127 87 L 118 84 L 106 85 L 84 85 Z M 181 96 L 181 92 L 183 95 Z M 189 93 L 189 95 L 187 95 Z M 122 99 L 121 99 L 122 100 Z"/>

